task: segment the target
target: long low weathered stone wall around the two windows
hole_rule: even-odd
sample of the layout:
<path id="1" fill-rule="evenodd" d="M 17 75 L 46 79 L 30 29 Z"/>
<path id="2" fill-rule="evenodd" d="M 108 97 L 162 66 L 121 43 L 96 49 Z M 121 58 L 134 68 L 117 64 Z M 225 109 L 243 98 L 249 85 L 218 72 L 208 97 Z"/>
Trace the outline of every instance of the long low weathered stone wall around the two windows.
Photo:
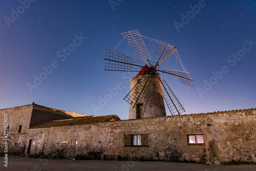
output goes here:
<path id="1" fill-rule="evenodd" d="M 29 134 L 43 142 L 37 152 L 61 148 L 66 157 L 71 139 L 78 139 L 81 155 L 91 150 L 130 158 L 256 162 L 255 122 L 251 109 L 30 129 Z M 148 134 L 148 147 L 124 147 L 125 134 Z M 203 134 L 205 144 L 188 145 L 188 134 Z"/>

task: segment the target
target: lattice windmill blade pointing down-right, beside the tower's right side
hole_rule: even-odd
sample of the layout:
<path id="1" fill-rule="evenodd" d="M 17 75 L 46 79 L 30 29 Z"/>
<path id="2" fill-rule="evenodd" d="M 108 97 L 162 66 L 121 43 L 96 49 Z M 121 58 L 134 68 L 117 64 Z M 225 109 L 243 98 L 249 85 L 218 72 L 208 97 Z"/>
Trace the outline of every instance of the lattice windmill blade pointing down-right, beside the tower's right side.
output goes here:
<path id="1" fill-rule="evenodd" d="M 170 90 L 169 86 L 165 82 L 165 80 L 161 81 L 163 87 L 163 96 L 164 100 L 170 110 L 172 116 L 180 115 L 182 112 L 185 112 L 183 106 L 180 104 L 179 100 L 175 96 L 172 90 Z"/>

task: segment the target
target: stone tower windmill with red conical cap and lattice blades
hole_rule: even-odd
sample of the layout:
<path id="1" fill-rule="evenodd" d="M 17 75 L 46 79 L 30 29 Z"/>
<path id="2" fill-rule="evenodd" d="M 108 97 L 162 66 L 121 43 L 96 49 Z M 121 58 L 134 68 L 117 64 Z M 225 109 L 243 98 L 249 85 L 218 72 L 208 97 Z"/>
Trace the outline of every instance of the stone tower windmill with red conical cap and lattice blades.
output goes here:
<path id="1" fill-rule="evenodd" d="M 139 72 L 131 79 L 131 91 L 124 97 L 124 100 L 130 103 L 129 119 L 166 116 L 164 100 L 172 115 L 180 115 L 182 112 L 185 112 L 173 91 L 165 80 L 159 77 L 158 73 L 161 72 L 179 77 L 183 84 L 194 88 L 190 73 L 185 70 L 180 58 L 177 59 L 180 61 L 184 71 L 166 68 L 158 69 L 172 54 L 178 54 L 176 47 L 166 44 L 161 40 L 157 41 L 158 46 L 154 56 L 156 62 L 153 62 L 149 60 L 151 55 L 138 30 L 121 34 L 139 57 L 145 61 L 143 66 L 140 60 L 106 49 L 106 58 L 104 58 L 105 70 Z M 155 64 L 152 65 L 152 63 Z"/>

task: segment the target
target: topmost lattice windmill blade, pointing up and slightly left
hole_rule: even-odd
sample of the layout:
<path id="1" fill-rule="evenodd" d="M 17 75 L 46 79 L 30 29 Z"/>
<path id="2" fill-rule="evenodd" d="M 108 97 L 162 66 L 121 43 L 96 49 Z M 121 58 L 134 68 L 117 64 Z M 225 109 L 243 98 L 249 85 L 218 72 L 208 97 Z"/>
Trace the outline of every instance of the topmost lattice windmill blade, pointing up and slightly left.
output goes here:
<path id="1" fill-rule="evenodd" d="M 138 30 L 121 33 L 142 60 L 151 58 Z"/>

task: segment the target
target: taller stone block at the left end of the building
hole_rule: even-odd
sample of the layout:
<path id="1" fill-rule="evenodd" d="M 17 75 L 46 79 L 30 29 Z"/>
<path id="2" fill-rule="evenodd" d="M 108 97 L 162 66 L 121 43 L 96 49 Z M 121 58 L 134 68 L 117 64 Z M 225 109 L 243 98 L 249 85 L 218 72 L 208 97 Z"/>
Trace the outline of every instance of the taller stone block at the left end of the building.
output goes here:
<path id="1" fill-rule="evenodd" d="M 4 114 L 8 114 L 8 154 L 20 155 L 25 154 L 29 146 L 29 140 L 35 139 L 34 134 L 28 132 L 29 127 L 44 123 L 50 120 L 70 119 L 77 116 L 83 116 L 71 112 L 60 111 L 47 108 L 37 104 L 17 106 L 14 108 L 0 110 L 0 127 L 4 131 Z M 19 126 L 22 126 L 21 132 L 18 133 Z M 39 134 L 39 135 L 38 135 Z M 37 137 L 40 133 L 36 133 Z M 4 135 L 0 135 L 1 142 Z M 2 143 L 1 143 L 2 144 Z M 0 154 L 4 152 L 4 146 L 0 145 Z"/>

